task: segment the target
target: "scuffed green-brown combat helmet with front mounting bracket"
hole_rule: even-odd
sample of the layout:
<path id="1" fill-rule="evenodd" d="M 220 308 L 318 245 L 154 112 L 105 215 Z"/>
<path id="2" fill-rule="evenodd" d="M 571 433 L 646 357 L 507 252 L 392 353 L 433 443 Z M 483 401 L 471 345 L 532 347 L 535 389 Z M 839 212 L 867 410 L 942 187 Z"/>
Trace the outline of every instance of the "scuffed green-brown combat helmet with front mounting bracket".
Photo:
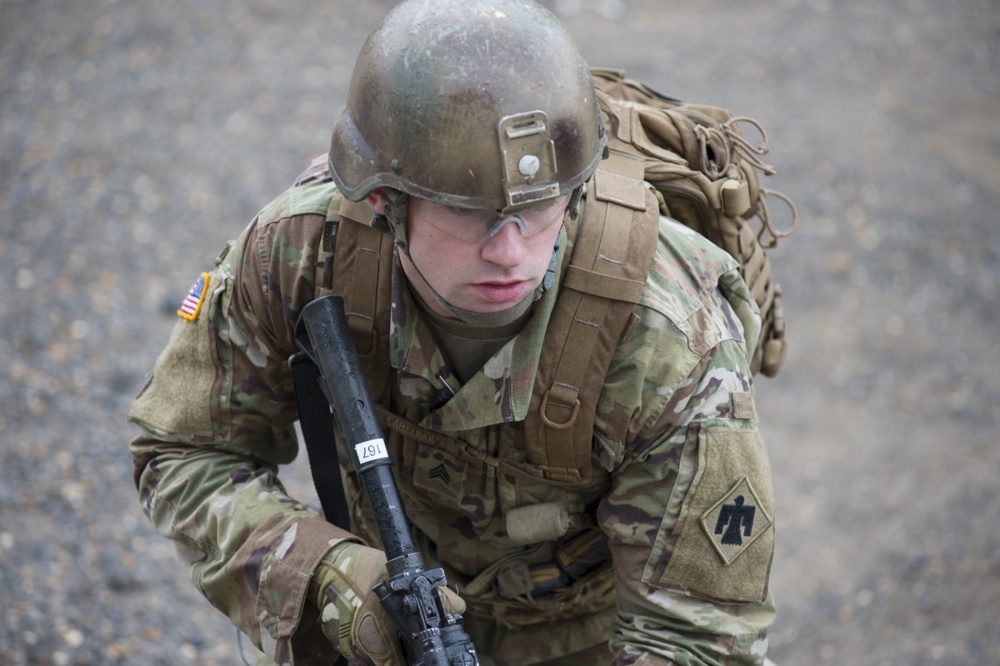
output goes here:
<path id="1" fill-rule="evenodd" d="M 408 0 L 368 37 L 333 129 L 352 200 L 385 187 L 512 212 L 583 184 L 606 146 L 587 64 L 528 0 Z"/>

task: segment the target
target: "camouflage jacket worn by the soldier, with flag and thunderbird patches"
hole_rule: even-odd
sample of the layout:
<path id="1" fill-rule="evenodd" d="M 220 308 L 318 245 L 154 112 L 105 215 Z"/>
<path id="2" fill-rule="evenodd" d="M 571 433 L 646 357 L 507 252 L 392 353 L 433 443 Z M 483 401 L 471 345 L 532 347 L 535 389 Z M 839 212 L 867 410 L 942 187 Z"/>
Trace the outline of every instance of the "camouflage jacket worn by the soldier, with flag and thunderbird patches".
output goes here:
<path id="1" fill-rule="evenodd" d="M 377 545 L 350 474 L 356 534 L 277 476 L 297 452 L 294 326 L 339 196 L 322 173 L 300 178 L 226 248 L 129 414 L 142 428 L 131 451 L 143 509 L 208 600 L 281 664 L 332 661 L 305 601 L 311 574 L 342 540 Z M 386 406 L 466 455 L 405 427 L 390 451 L 415 536 L 467 601 L 470 633 L 502 629 L 479 651 L 535 663 L 610 640 L 615 664 L 763 663 L 774 507 L 747 358 L 760 320 L 735 260 L 661 218 L 638 326 L 597 405 L 598 422 L 624 415 L 627 436 L 596 429 L 600 475 L 583 488 L 475 463 L 524 459 L 519 425 L 558 281 L 464 386 L 398 266 L 392 283 Z M 439 404 L 444 389 L 454 395 Z"/>

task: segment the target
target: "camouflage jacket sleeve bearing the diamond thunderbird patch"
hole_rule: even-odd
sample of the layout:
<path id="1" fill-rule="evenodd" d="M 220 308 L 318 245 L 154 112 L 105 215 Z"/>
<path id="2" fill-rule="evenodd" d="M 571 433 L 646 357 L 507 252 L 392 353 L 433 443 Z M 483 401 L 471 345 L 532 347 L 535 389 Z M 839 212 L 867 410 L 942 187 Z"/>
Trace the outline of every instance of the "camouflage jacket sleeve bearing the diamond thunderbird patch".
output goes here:
<path id="1" fill-rule="evenodd" d="M 598 510 L 618 581 L 615 664 L 765 658 L 774 498 L 744 340 L 759 319 L 727 280 L 737 293 L 715 290 L 685 322 L 702 337 L 646 312 L 623 350 L 645 387 Z"/>

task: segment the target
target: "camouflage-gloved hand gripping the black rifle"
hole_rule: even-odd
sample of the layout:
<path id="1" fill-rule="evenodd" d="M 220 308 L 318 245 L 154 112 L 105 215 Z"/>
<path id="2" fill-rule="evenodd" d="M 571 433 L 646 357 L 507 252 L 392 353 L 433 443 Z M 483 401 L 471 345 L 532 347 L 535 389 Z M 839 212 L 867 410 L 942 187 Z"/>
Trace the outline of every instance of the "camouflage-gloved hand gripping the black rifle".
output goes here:
<path id="1" fill-rule="evenodd" d="M 310 593 L 320 609 L 323 634 L 352 664 L 405 666 L 396 629 L 372 588 L 387 576 L 385 553 L 358 543 L 337 544 L 313 574 Z M 452 614 L 465 602 L 441 588 Z"/>

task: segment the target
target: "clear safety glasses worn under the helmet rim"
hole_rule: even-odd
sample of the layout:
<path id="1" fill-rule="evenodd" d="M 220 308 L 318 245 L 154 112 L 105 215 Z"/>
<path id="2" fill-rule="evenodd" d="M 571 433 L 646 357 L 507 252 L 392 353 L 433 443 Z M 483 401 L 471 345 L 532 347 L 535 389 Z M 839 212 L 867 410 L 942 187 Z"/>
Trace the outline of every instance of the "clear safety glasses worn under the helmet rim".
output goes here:
<path id="1" fill-rule="evenodd" d="M 415 217 L 449 236 L 468 243 L 481 243 L 487 238 L 496 236 L 507 224 L 517 225 L 521 234 L 527 238 L 537 236 L 563 219 L 567 203 L 566 197 L 559 197 L 555 203 L 545 208 L 522 210 L 510 215 L 497 215 L 493 211 L 485 210 L 435 206 L 433 215 L 419 211 L 415 213 Z"/>

